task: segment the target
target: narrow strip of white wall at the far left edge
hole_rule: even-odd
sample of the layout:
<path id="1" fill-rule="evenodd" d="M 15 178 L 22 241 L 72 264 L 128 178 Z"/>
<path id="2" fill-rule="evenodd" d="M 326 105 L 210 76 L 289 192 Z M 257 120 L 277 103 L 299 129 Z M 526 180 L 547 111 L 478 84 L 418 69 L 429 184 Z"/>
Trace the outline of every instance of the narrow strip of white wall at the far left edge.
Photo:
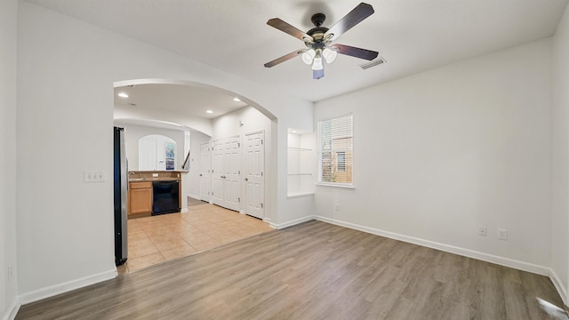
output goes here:
<path id="1" fill-rule="evenodd" d="M 16 28 L 18 1 L 0 1 L 0 318 L 13 313 L 16 264 Z M 13 276 L 8 279 L 8 268 Z"/>

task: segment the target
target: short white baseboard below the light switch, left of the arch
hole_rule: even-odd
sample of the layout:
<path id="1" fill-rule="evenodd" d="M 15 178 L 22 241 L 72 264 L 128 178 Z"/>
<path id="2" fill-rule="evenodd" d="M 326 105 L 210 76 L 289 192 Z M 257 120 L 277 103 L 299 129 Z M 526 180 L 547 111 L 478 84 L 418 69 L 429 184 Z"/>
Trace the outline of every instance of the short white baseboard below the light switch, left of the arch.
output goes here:
<path id="1" fill-rule="evenodd" d="M 63 284 L 54 284 L 45 288 L 37 289 L 33 292 L 26 292 L 20 295 L 20 304 L 24 305 L 38 300 L 43 300 L 45 298 L 50 298 L 60 293 L 70 292 L 79 288 L 83 288 L 87 285 L 98 284 L 100 282 L 112 279 L 116 276 L 117 272 L 115 268 L 113 270 L 101 272 L 97 275 L 85 276 L 84 278 L 71 280 Z"/>

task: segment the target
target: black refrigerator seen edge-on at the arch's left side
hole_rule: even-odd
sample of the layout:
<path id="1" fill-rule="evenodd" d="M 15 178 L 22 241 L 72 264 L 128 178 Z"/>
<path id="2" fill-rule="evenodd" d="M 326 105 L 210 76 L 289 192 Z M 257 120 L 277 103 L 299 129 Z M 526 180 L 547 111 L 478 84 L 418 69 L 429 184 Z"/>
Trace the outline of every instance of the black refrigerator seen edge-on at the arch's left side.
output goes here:
<path id="1" fill-rule="evenodd" d="M 128 168 L 126 162 L 126 148 L 124 147 L 124 128 L 115 127 L 113 179 L 115 181 L 115 264 L 120 266 L 126 262 L 128 253 L 127 244 L 127 212 L 126 196 L 128 188 Z"/>

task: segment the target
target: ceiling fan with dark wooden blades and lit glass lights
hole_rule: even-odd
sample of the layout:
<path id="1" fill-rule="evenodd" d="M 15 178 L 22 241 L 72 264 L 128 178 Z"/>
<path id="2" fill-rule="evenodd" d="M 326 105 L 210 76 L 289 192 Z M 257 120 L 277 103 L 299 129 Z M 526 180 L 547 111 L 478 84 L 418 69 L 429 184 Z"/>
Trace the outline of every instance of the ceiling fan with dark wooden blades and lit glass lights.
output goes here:
<path id="1" fill-rule="evenodd" d="M 314 79 L 319 79 L 324 76 L 323 58 L 328 64 L 332 63 L 333 60 L 336 59 L 336 55 L 338 53 L 365 60 L 375 59 L 378 52 L 345 44 L 332 44 L 333 40 L 337 39 L 344 32 L 365 20 L 365 18 L 371 16 L 373 12 L 371 4 L 357 4 L 356 8 L 346 14 L 346 16 L 344 16 L 340 21 L 336 22 L 332 28 L 322 27 L 326 16 L 324 13 L 316 13 L 311 19 L 315 28 L 311 28 L 307 32 L 294 28 L 292 25 L 278 18 L 268 20 L 267 24 L 269 26 L 301 39 L 307 46 L 307 49 L 300 49 L 285 54 L 280 58 L 265 63 L 265 67 L 274 67 L 281 62 L 291 60 L 299 54 L 302 54 L 302 61 L 308 65 L 312 65 L 312 77 Z"/>

